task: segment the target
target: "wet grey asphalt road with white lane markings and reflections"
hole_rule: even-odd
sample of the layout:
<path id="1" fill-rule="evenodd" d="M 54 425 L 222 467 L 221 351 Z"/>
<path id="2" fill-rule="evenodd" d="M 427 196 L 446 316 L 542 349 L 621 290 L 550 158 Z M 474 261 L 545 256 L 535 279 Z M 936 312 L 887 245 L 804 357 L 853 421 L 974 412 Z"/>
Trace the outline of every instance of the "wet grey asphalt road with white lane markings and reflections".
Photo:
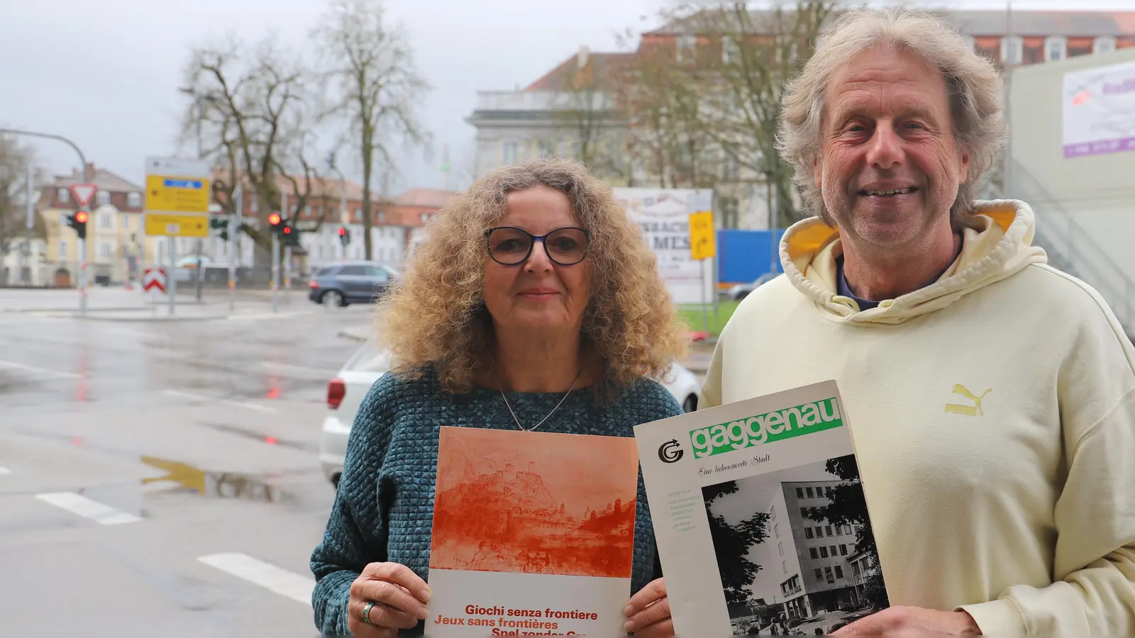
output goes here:
<path id="1" fill-rule="evenodd" d="M 318 435 L 358 345 L 337 333 L 367 309 L 119 322 L 14 312 L 7 294 L 0 635 L 318 636 Z"/>

